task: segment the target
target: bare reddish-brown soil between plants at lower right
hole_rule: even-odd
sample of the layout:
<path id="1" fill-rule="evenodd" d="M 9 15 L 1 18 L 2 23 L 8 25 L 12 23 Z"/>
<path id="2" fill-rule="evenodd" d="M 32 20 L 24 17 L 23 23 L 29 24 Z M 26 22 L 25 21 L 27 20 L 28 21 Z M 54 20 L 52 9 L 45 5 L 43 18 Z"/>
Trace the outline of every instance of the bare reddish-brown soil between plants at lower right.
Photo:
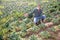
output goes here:
<path id="1" fill-rule="evenodd" d="M 30 35 L 35 34 L 35 35 L 38 35 L 38 38 L 39 38 L 39 37 L 40 37 L 39 33 L 46 30 L 46 31 L 48 31 L 51 35 L 56 36 L 55 39 L 54 39 L 54 38 L 50 38 L 50 39 L 48 39 L 48 40 L 60 40 L 60 30 L 58 30 L 58 31 L 56 31 L 56 32 L 52 32 L 52 31 L 49 30 L 49 28 L 54 27 L 54 26 L 56 26 L 56 25 L 54 25 L 52 22 L 47 22 L 47 23 L 45 23 L 45 25 L 46 25 L 46 27 L 45 27 L 44 29 L 40 29 L 40 30 L 37 31 L 36 33 L 30 31 L 28 34 L 26 34 L 25 37 L 28 38 Z M 45 40 L 45 39 L 44 39 L 44 40 Z M 47 39 L 46 39 L 46 40 L 47 40 Z"/>

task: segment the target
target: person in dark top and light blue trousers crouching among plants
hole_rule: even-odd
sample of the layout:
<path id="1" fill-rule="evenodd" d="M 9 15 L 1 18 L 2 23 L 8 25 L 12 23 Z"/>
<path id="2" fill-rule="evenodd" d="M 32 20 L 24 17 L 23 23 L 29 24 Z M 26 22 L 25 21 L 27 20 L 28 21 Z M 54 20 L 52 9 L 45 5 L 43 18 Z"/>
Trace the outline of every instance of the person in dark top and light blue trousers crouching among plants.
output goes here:
<path id="1" fill-rule="evenodd" d="M 34 14 L 34 23 L 36 25 L 39 24 L 39 21 L 41 23 L 44 22 L 44 19 L 46 18 L 46 16 L 43 15 L 43 13 L 42 13 L 42 9 L 41 9 L 40 4 L 38 4 L 37 7 L 29 15 L 32 15 L 32 14 Z"/>

